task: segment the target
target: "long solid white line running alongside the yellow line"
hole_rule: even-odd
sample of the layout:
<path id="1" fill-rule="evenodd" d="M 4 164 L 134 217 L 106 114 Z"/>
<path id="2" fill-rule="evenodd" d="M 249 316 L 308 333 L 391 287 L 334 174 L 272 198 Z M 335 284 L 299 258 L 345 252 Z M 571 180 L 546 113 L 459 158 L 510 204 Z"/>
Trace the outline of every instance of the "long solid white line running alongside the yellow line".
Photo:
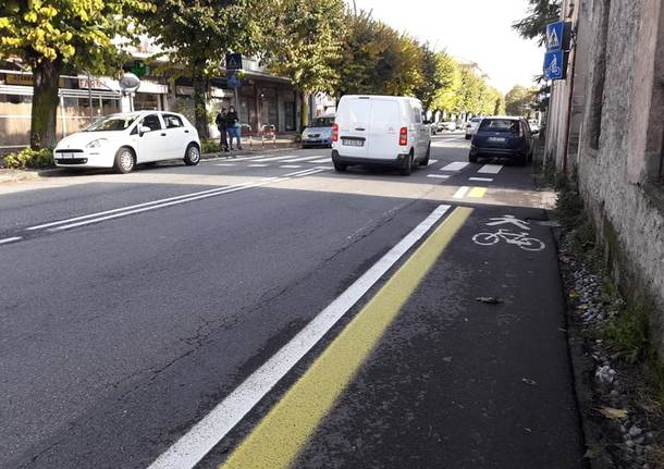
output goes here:
<path id="1" fill-rule="evenodd" d="M 439 206 L 148 469 L 188 469 L 196 466 L 447 210 L 450 206 Z"/>

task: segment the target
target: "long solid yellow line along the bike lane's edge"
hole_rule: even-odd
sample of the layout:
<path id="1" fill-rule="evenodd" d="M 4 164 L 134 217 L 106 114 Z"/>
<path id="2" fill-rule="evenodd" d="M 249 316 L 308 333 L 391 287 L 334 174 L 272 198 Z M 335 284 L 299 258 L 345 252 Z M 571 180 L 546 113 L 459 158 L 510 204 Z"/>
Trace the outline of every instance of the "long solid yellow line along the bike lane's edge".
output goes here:
<path id="1" fill-rule="evenodd" d="M 293 464 L 471 212 L 459 207 L 441 223 L 220 468 L 279 469 Z"/>

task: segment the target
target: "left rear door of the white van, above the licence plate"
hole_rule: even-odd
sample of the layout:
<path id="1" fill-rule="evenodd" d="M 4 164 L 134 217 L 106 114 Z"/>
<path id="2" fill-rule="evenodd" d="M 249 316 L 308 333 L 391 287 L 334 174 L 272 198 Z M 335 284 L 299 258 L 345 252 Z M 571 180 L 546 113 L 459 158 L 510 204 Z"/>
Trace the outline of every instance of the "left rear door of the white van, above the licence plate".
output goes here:
<path id="1" fill-rule="evenodd" d="M 369 148 L 369 97 L 342 98 L 336 123 L 339 124 L 339 152 L 343 157 L 367 158 Z"/>

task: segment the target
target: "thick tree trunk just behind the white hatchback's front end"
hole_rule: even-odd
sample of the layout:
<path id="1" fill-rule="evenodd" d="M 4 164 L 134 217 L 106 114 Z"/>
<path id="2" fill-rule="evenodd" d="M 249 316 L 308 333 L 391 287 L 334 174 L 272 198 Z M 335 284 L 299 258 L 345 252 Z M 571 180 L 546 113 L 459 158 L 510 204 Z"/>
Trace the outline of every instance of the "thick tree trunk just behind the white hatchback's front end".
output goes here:
<path id="1" fill-rule="evenodd" d="M 56 146 L 56 116 L 61 72 L 60 61 L 44 61 L 33 67 L 30 147 L 36 150 Z"/>

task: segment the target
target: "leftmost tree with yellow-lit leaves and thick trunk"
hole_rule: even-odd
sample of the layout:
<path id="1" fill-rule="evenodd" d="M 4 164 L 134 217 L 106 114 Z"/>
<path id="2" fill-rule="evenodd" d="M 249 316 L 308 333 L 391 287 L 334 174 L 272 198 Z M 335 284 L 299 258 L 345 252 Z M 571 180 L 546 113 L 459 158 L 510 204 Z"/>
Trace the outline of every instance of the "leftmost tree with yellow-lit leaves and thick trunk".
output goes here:
<path id="1" fill-rule="evenodd" d="M 33 72 L 30 146 L 56 144 L 60 76 L 66 70 L 115 74 L 121 53 L 113 38 L 132 30 L 143 0 L 30 0 L 0 4 L 0 54 L 22 59 Z"/>

